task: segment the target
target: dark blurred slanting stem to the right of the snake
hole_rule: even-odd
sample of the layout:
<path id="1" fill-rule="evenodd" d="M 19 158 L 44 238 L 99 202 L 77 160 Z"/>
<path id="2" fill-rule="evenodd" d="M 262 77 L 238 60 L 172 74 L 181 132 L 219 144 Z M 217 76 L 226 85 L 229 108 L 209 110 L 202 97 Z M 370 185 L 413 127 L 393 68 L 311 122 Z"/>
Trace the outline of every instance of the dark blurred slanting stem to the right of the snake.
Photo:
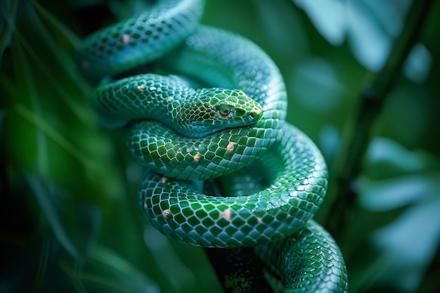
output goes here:
<path id="1" fill-rule="evenodd" d="M 335 162 L 334 184 L 330 186 L 328 200 L 332 201 L 328 210 L 326 228 L 335 237 L 344 231 L 349 212 L 356 199 L 354 182 L 361 171 L 371 139 L 371 129 L 382 110 L 390 89 L 401 77 L 401 70 L 410 50 L 416 44 L 427 20 L 434 0 L 413 1 L 403 30 L 396 39 L 387 63 L 376 75 L 373 83 L 361 93 L 353 122 L 349 124 L 347 135 Z M 331 215 L 331 216 L 330 216 Z"/>

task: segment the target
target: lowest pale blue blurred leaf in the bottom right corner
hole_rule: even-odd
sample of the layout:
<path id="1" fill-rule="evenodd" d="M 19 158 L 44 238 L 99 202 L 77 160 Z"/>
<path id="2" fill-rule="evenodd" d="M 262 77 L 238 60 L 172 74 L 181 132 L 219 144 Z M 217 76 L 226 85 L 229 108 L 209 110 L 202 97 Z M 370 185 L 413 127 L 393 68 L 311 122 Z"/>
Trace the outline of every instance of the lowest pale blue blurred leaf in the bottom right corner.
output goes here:
<path id="1" fill-rule="evenodd" d="M 439 211 L 437 197 L 408 208 L 399 219 L 374 233 L 377 247 L 392 256 L 382 267 L 379 282 L 401 292 L 415 292 L 440 245 Z"/>

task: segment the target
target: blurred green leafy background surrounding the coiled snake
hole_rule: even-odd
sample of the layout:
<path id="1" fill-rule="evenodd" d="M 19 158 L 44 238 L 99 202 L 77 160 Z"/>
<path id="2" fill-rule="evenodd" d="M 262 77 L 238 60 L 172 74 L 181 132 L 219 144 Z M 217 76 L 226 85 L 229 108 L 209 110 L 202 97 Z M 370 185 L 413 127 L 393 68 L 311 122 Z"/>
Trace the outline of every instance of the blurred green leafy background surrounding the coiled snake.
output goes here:
<path id="1" fill-rule="evenodd" d="M 356 101 L 410 4 L 207 0 L 202 22 L 252 39 L 275 60 L 287 119 L 318 144 L 332 176 Z M 144 6 L 1 1 L 0 292 L 221 292 L 202 249 L 167 240 L 143 219 L 143 170 L 122 131 L 99 126 L 72 60 L 80 38 Z M 393 77 L 354 183 L 355 216 L 336 239 L 350 292 L 440 290 L 439 13 L 436 2 Z"/>

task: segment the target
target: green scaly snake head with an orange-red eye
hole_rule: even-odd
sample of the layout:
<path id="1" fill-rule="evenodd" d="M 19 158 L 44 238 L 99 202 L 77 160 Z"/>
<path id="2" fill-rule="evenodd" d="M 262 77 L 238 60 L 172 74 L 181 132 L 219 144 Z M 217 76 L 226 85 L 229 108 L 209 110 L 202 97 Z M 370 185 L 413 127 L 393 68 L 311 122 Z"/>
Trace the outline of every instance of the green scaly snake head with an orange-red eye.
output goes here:
<path id="1" fill-rule="evenodd" d="M 263 116 L 263 108 L 240 90 L 200 89 L 179 116 L 190 136 L 202 137 L 254 124 Z"/>

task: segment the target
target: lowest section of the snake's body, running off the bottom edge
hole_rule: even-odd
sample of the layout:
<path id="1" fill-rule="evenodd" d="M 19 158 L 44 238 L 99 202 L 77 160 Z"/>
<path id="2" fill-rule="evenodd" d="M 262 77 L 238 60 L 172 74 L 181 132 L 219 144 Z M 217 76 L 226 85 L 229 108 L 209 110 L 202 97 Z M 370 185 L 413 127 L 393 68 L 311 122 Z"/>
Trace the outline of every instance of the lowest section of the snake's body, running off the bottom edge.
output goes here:
<path id="1" fill-rule="evenodd" d="M 255 251 L 283 281 L 283 292 L 347 292 L 347 271 L 339 249 L 313 220 L 294 235 L 260 245 Z"/>

